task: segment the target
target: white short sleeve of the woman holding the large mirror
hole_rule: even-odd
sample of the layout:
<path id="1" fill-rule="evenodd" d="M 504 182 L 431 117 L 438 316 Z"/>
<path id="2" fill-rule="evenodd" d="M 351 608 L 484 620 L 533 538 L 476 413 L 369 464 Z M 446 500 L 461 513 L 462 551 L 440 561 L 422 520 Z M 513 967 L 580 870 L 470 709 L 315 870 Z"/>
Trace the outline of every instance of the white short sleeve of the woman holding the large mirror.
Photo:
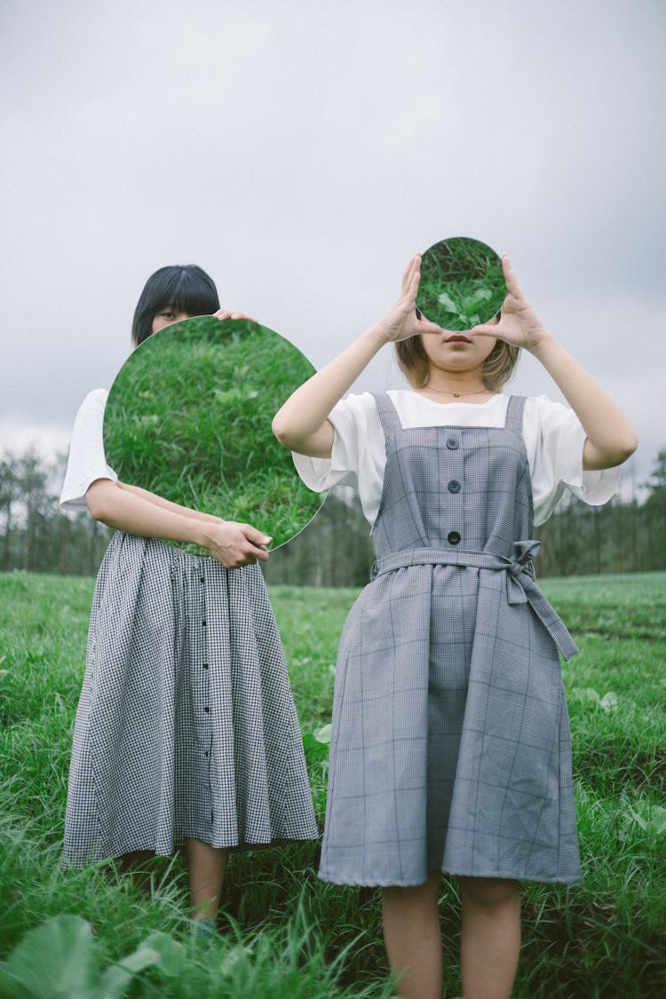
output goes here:
<path id="1" fill-rule="evenodd" d="M 107 389 L 94 389 L 88 393 L 76 415 L 60 495 L 62 510 L 88 509 L 86 493 L 96 479 L 118 482 L 118 476 L 109 468 L 104 457 L 104 408 L 108 397 Z"/>

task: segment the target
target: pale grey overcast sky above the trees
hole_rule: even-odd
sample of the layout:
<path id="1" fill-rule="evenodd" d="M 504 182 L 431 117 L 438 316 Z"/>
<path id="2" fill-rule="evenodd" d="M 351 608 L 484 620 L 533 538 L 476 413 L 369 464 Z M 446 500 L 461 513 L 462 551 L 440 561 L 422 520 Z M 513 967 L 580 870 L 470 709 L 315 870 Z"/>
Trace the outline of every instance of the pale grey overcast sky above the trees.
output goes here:
<path id="1" fill-rule="evenodd" d="M 148 276 L 198 263 L 318 367 L 447 236 L 666 447 L 661 0 L 0 0 L 0 451 L 62 447 Z M 400 384 L 388 352 L 360 389 Z M 560 398 L 531 358 L 515 391 Z"/>

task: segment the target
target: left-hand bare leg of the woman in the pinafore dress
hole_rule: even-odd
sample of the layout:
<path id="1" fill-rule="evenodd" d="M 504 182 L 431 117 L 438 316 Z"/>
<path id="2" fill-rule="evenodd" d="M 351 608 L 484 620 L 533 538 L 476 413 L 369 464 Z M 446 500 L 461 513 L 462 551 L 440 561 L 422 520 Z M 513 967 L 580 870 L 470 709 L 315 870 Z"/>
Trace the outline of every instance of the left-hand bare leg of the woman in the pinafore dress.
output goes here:
<path id="1" fill-rule="evenodd" d="M 439 871 L 430 871 L 425 884 L 381 891 L 383 939 L 390 970 L 400 979 L 398 996 L 441 997 L 439 880 Z"/>

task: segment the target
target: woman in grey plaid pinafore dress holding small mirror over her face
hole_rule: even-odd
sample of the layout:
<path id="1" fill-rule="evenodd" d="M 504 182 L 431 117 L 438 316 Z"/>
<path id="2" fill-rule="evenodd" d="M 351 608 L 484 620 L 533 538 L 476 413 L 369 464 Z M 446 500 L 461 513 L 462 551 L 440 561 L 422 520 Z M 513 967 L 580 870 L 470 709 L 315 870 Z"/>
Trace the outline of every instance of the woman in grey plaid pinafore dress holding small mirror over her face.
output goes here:
<path id="1" fill-rule="evenodd" d="M 459 877 L 474 999 L 511 994 L 518 881 L 579 877 L 558 657 L 576 647 L 534 582 L 533 523 L 565 488 L 610 499 L 636 447 L 502 265 L 499 316 L 452 333 L 415 308 L 414 256 L 396 305 L 274 420 L 304 481 L 356 486 L 372 524 L 337 657 L 320 877 L 381 887 L 396 992 L 418 999 L 441 995 L 442 871 Z M 342 399 L 386 344 L 411 389 Z M 570 408 L 498 392 L 520 348 Z"/>

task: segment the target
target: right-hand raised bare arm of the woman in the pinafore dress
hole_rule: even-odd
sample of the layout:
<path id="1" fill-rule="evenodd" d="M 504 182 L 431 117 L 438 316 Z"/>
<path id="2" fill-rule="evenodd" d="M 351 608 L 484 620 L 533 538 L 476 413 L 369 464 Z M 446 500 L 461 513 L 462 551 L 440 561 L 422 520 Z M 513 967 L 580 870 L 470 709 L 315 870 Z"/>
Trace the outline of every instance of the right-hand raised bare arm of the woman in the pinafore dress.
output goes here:
<path id="1" fill-rule="evenodd" d="M 502 256 L 507 296 L 497 326 L 477 326 L 477 336 L 498 337 L 522 347 L 537 358 L 574 411 L 587 438 L 583 447 L 583 469 L 611 469 L 633 455 L 636 434 L 615 404 L 563 347 L 546 332 L 524 298 L 504 254 Z"/>

